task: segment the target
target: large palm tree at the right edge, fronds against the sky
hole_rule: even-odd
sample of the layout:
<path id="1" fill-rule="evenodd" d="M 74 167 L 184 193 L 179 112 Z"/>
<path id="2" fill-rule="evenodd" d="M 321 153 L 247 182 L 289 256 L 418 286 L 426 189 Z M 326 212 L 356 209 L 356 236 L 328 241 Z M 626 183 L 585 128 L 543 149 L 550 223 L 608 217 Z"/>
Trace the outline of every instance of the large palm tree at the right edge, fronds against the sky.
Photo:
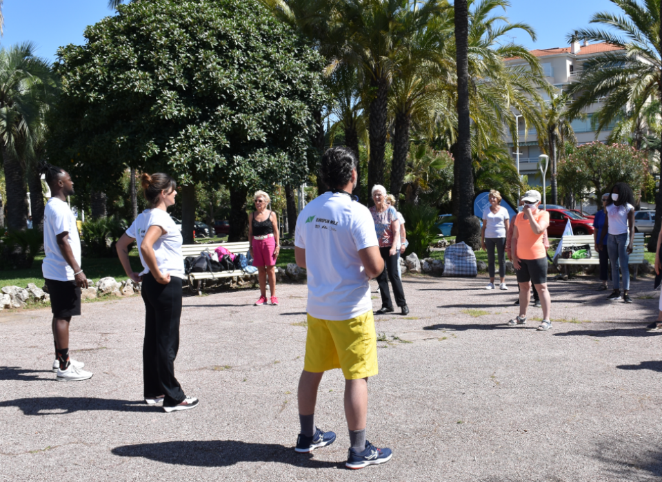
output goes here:
<path id="1" fill-rule="evenodd" d="M 621 50 L 606 52 L 586 61 L 583 70 L 568 92 L 575 100 L 570 116 L 578 115 L 597 99 L 606 97 L 599 114 L 597 132 L 618 120 L 628 105 L 641 109 L 651 97 L 662 102 L 662 3 L 660 0 L 610 0 L 621 14 L 599 12 L 590 23 L 610 30 L 586 28 L 568 36 L 571 41 L 599 41 Z M 635 112 L 638 116 L 639 113 Z M 649 251 L 655 251 L 662 225 L 662 189 L 656 196 L 655 227 Z"/>

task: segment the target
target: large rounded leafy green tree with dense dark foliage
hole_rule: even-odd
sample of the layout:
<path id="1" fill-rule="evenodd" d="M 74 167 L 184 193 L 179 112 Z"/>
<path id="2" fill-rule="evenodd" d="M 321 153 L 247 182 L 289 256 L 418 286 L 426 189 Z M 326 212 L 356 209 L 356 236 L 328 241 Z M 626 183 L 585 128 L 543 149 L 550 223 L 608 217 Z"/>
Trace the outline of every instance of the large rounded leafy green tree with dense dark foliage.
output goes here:
<path id="1" fill-rule="evenodd" d="M 101 188 L 126 167 L 170 173 L 190 243 L 197 182 L 229 187 L 237 240 L 249 188 L 307 176 L 323 59 L 261 4 L 134 1 L 85 36 L 59 50 L 50 146 L 81 183 Z"/>

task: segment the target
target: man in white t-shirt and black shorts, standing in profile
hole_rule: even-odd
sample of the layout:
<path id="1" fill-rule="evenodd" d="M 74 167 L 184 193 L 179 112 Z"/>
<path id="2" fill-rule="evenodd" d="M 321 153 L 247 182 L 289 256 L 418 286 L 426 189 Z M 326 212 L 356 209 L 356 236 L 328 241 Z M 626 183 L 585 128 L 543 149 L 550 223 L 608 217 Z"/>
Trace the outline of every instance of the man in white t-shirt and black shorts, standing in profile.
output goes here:
<path id="1" fill-rule="evenodd" d="M 43 250 L 46 253 L 41 264 L 46 288 L 50 295 L 53 313 L 52 331 L 55 344 L 55 362 L 52 370 L 59 381 L 86 380 L 92 373 L 83 370 L 83 362 L 69 357 L 69 323 L 72 316 L 81 314 L 81 288 L 88 287 L 88 280 L 81 269 L 81 238 L 76 218 L 67 196 L 74 193 L 74 183 L 68 172 L 50 164 L 43 164 L 52 198 L 43 210 Z"/>

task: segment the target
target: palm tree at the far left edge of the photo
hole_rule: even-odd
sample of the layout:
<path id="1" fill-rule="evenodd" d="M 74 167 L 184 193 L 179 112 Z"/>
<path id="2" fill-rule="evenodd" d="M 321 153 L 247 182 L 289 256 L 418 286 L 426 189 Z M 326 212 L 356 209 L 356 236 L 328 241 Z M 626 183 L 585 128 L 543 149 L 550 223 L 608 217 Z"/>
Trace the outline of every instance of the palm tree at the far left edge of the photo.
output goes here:
<path id="1" fill-rule="evenodd" d="M 33 155 L 39 142 L 43 105 L 51 83 L 48 64 L 33 51 L 32 43 L 0 49 L 0 140 L 7 221 L 12 229 L 27 226 L 26 156 Z"/>

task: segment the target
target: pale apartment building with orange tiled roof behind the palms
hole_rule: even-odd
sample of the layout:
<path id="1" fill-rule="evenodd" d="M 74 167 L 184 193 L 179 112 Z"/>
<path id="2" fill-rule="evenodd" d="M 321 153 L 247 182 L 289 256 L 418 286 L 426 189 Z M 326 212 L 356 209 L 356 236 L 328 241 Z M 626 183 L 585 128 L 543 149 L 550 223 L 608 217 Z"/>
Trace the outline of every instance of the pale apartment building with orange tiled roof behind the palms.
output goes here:
<path id="1" fill-rule="evenodd" d="M 541 50 L 531 50 L 531 54 L 538 57 L 543 72 L 547 81 L 553 85 L 556 90 L 561 92 L 565 86 L 572 83 L 582 70 L 582 65 L 588 59 L 595 56 L 604 54 L 605 52 L 612 52 L 614 50 L 621 50 L 614 45 L 608 43 L 592 43 L 584 42 L 581 45 L 579 42 L 574 42 L 570 47 L 565 48 L 549 48 Z M 505 61 L 506 65 L 519 65 L 525 63 L 521 59 L 508 59 Z M 543 98 L 549 99 L 548 94 L 543 95 Z M 572 121 L 572 129 L 577 138 L 578 144 L 590 143 L 596 140 L 596 133 L 591 128 L 591 116 L 594 112 L 600 109 L 601 102 L 593 104 L 586 112 L 587 118 L 584 120 Z M 538 136 L 536 129 L 524 129 L 524 121 L 519 118 L 519 139 L 513 140 L 508 135 L 506 142 L 513 158 L 516 158 L 517 146 L 515 141 L 519 141 L 519 169 L 520 174 L 528 176 L 530 185 L 541 185 L 542 179 L 540 172 L 537 169 L 538 156 L 542 154 L 538 147 Z M 613 127 L 613 126 L 610 126 Z M 597 140 L 606 140 L 611 129 L 603 130 Z M 548 172 L 547 184 L 549 185 L 550 173 Z"/>

